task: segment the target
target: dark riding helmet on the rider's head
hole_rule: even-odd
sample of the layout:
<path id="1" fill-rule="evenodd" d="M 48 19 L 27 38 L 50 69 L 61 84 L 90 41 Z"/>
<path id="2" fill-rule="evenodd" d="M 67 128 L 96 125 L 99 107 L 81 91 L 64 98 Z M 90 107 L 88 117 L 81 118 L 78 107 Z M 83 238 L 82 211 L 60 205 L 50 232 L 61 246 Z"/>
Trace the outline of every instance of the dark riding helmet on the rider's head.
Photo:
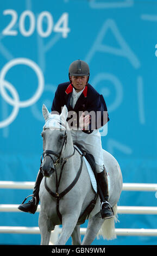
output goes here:
<path id="1" fill-rule="evenodd" d="M 68 77 L 70 79 L 70 76 L 87 76 L 88 81 L 90 77 L 90 69 L 89 65 L 84 62 L 83 60 L 74 60 L 70 64 L 69 70 L 68 70 Z"/>

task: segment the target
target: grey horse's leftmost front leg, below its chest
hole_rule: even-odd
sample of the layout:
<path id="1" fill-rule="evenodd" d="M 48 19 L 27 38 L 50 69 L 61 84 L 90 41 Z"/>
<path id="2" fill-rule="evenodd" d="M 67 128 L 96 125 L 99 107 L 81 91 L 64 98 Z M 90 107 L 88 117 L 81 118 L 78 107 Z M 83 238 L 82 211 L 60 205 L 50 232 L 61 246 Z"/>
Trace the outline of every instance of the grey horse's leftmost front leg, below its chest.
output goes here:
<path id="1" fill-rule="evenodd" d="M 42 211 L 40 211 L 40 215 L 39 215 L 39 229 L 40 229 L 40 234 L 41 234 L 40 245 L 48 245 L 49 239 L 51 236 L 51 230 L 48 230 L 47 218 L 46 218 L 46 215 L 43 214 Z"/>

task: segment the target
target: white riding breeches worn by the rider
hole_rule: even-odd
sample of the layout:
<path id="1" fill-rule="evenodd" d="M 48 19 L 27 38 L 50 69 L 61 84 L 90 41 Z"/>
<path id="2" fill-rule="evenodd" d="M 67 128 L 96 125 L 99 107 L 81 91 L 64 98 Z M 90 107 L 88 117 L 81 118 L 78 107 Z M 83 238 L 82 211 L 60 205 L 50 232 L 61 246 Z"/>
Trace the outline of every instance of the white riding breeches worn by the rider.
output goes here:
<path id="1" fill-rule="evenodd" d="M 102 140 L 99 130 L 94 130 L 87 134 L 81 130 L 71 130 L 73 143 L 77 143 L 83 150 L 90 153 L 95 158 L 96 172 L 101 173 L 104 170 Z"/>

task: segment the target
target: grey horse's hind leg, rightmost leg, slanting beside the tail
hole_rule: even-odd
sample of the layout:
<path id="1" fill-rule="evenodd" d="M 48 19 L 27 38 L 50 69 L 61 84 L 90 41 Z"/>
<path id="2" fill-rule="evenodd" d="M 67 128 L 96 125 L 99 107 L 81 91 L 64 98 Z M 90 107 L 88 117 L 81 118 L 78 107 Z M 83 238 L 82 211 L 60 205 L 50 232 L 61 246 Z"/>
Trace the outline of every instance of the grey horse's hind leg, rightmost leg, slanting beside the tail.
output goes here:
<path id="1" fill-rule="evenodd" d="M 103 222 L 104 220 L 101 218 L 100 212 L 89 219 L 86 234 L 81 245 L 91 245 L 101 229 Z"/>

